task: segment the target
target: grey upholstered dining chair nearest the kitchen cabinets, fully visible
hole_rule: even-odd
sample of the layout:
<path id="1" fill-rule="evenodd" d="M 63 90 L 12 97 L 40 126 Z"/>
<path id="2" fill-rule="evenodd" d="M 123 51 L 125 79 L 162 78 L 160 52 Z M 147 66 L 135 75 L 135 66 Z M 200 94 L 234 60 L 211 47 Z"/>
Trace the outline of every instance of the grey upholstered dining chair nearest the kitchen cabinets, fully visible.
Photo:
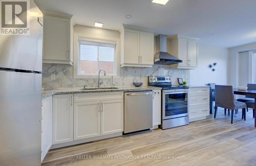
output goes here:
<path id="1" fill-rule="evenodd" d="M 216 118 L 218 107 L 231 110 L 231 124 L 233 123 L 234 110 L 246 110 L 246 103 L 234 100 L 234 92 L 232 86 L 215 86 L 215 113 Z"/>

